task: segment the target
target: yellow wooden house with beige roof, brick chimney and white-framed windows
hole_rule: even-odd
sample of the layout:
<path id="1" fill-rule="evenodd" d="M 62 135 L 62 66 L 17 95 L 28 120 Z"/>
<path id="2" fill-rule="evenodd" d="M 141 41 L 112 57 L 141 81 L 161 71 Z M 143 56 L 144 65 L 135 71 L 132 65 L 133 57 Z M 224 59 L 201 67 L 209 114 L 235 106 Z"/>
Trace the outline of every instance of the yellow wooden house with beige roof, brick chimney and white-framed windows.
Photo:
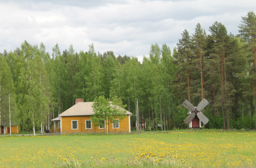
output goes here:
<path id="1" fill-rule="evenodd" d="M 59 116 L 52 121 L 60 122 L 60 132 L 101 132 L 104 130 L 105 132 L 114 132 L 115 129 L 116 132 L 131 132 L 131 112 L 126 111 L 126 117 L 122 120 L 118 120 L 115 124 L 110 121 L 102 121 L 103 124 L 101 126 L 94 126 L 90 118 L 91 115 L 94 114 L 92 105 L 93 102 L 83 102 L 83 99 L 76 99 L 74 106 L 59 114 Z"/>

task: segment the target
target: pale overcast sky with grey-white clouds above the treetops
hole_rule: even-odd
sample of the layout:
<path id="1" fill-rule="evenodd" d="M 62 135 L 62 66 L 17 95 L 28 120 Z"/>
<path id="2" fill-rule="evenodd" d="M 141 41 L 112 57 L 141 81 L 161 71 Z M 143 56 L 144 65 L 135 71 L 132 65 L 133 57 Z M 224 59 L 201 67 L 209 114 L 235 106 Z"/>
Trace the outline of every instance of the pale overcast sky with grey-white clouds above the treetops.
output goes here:
<path id="1" fill-rule="evenodd" d="M 78 53 L 95 51 L 148 57 L 150 46 L 167 44 L 171 50 L 187 29 L 209 34 L 214 22 L 238 34 L 241 16 L 256 12 L 255 0 L 0 0 L 0 52 L 13 51 L 26 40 L 42 42 L 49 54 L 73 45 Z"/>

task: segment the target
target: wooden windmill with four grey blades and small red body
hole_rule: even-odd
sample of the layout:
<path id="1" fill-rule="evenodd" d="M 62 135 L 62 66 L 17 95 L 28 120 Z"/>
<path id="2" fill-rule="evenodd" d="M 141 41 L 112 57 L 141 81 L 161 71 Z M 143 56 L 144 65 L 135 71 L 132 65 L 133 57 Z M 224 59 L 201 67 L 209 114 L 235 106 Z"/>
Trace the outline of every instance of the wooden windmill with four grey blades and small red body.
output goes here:
<path id="1" fill-rule="evenodd" d="M 209 104 L 209 102 L 206 99 L 202 99 L 197 107 L 194 107 L 188 100 L 182 103 L 182 105 L 189 110 L 189 115 L 184 120 L 186 124 L 189 124 L 189 128 L 201 128 L 201 122 L 203 122 L 204 125 L 208 123 L 209 119 L 200 112 L 207 104 Z"/>

